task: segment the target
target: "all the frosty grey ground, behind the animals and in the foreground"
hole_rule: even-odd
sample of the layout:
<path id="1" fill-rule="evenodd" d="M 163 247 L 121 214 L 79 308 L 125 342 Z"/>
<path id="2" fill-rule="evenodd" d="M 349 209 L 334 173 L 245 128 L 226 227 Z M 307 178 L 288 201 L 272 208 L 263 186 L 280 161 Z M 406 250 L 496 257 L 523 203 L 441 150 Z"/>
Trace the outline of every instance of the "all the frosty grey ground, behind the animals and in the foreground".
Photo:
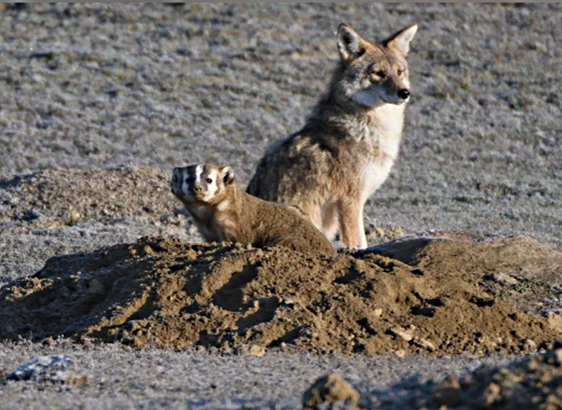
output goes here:
<path id="1" fill-rule="evenodd" d="M 527 233 L 561 247 L 561 11 L 554 3 L 2 4 L 0 191 L 37 170 L 202 161 L 229 164 L 248 182 L 265 147 L 298 130 L 324 90 L 341 21 L 368 39 L 417 21 L 401 156 L 366 215 L 408 233 Z M 168 232 L 161 215 L 114 216 L 50 228 L 1 214 L 0 275 Z M 42 349 L 2 344 L 0 369 Z M 362 393 L 395 396 L 412 375 L 441 378 L 476 363 L 59 350 L 83 355 L 109 384 L 58 391 L 10 382 L 0 386 L 0 407 L 211 409 L 279 400 L 289 408 L 328 369 Z"/>

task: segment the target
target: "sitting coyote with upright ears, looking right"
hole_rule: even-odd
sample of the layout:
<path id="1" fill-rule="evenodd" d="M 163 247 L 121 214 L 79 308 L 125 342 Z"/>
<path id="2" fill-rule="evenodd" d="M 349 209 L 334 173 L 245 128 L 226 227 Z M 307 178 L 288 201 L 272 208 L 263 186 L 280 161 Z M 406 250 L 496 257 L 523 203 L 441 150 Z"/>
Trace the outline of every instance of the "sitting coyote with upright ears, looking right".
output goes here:
<path id="1" fill-rule="evenodd" d="M 417 25 L 369 43 L 342 23 L 339 62 L 304 128 L 271 144 L 247 192 L 297 208 L 329 240 L 367 247 L 363 207 L 399 152 Z"/>

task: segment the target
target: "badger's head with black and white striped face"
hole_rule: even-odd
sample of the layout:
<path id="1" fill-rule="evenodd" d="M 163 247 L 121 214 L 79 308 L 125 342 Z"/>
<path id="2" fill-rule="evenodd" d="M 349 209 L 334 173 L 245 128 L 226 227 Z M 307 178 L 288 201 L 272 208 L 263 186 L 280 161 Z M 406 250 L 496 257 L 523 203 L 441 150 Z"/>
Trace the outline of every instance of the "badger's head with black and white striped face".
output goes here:
<path id="1" fill-rule="evenodd" d="M 190 165 L 174 168 L 172 193 L 186 201 L 212 202 L 223 188 L 234 182 L 229 166 Z"/>

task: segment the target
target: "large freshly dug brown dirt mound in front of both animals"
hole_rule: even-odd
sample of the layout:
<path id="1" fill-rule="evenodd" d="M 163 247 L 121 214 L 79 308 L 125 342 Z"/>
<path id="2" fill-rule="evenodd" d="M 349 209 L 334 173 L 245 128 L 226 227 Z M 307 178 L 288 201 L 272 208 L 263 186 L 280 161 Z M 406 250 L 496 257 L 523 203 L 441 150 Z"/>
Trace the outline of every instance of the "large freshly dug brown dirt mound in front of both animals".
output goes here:
<path id="1" fill-rule="evenodd" d="M 561 263 L 561 252 L 527 237 L 418 238 L 315 258 L 283 247 L 142 238 L 53 257 L 36 275 L 4 286 L 0 338 L 66 335 L 222 351 L 517 353 L 548 346 L 561 329 L 510 303 L 509 293 L 494 297 L 483 278 L 517 273 L 514 281 L 543 289 L 542 298 L 547 285 L 539 282 Z"/>

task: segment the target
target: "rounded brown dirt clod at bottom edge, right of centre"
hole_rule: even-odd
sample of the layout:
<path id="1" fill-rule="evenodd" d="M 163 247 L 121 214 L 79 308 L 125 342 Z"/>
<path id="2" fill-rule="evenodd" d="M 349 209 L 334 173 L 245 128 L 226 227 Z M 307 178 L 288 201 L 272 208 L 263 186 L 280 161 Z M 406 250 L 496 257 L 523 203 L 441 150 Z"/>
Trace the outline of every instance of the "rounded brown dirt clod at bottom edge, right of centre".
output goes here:
<path id="1" fill-rule="evenodd" d="M 317 379 L 303 394 L 303 407 L 317 409 L 321 404 L 344 402 L 355 409 L 359 393 L 337 373 L 330 373 Z"/>

